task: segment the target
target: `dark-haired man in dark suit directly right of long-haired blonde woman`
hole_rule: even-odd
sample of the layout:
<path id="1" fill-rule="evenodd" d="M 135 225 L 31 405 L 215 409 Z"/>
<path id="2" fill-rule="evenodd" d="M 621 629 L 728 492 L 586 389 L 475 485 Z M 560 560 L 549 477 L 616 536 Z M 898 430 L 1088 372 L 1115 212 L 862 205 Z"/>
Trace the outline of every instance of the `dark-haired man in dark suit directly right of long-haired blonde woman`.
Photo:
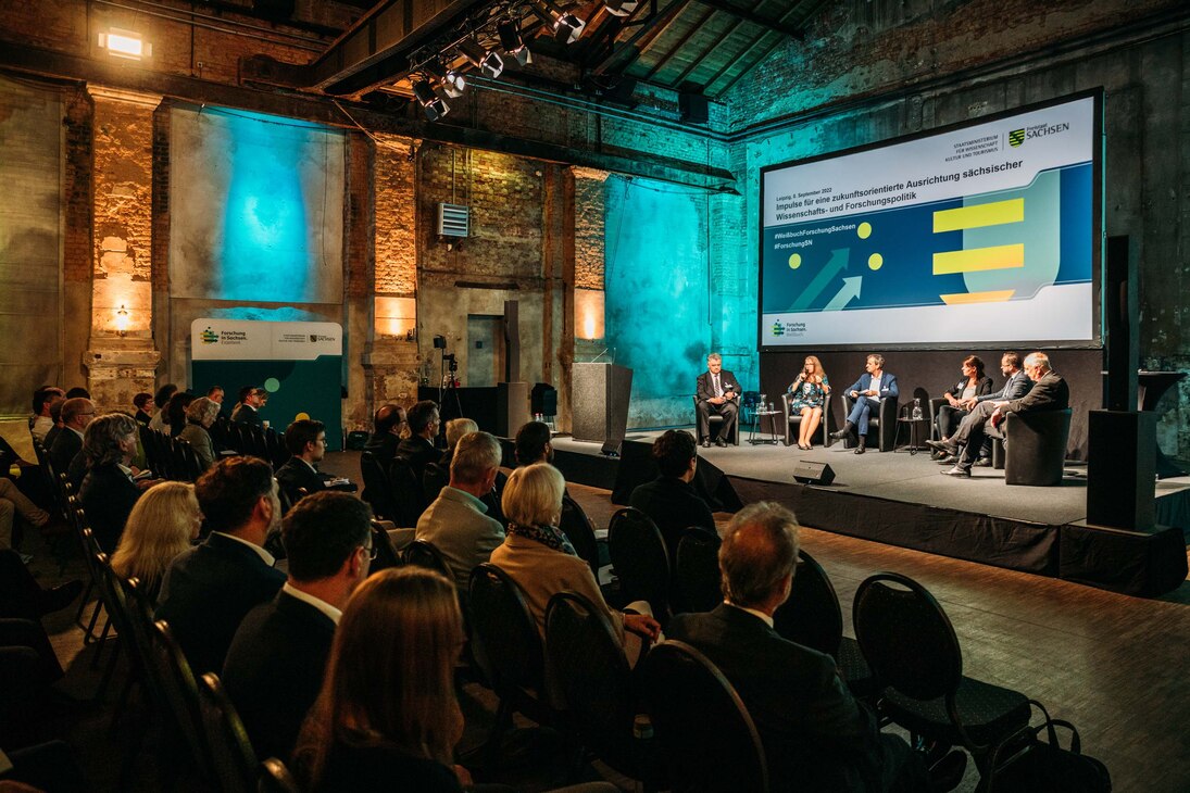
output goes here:
<path id="1" fill-rule="evenodd" d="M 170 565 L 157 619 L 164 619 L 195 675 L 223 669 L 236 629 L 252 606 L 271 599 L 286 575 L 273 567 L 264 540 L 281 518 L 273 468 L 264 460 L 232 457 L 194 483 L 207 523 L 206 542 Z"/>

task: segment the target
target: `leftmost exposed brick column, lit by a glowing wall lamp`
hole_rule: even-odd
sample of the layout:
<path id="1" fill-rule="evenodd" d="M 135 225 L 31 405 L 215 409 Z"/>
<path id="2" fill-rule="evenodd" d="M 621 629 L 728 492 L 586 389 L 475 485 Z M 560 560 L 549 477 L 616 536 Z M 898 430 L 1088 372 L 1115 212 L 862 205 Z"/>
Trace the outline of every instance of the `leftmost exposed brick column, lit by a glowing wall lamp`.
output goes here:
<path id="1" fill-rule="evenodd" d="M 154 109 L 161 96 L 90 86 L 94 114 L 94 270 L 88 386 L 100 410 L 152 391 Z"/>

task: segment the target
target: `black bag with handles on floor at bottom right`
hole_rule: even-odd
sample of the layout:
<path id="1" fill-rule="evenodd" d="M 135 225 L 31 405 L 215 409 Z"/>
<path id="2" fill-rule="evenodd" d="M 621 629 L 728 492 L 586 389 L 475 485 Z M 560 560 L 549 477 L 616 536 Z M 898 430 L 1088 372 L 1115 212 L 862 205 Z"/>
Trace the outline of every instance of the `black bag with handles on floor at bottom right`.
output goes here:
<path id="1" fill-rule="evenodd" d="M 1041 703 L 1031 699 L 1045 716 L 1045 723 L 1031 726 L 1026 736 L 1012 742 L 1000 755 L 1009 755 L 1002 761 L 991 785 L 992 789 L 1012 793 L 1110 793 L 1111 775 L 1107 766 L 1095 757 L 1083 754 L 1078 730 L 1070 722 L 1050 718 Z M 1058 739 L 1058 728 L 1070 731 L 1070 748 L 1063 749 Z M 1042 734 L 1045 738 L 1042 739 Z M 992 767 L 998 761 L 992 757 Z"/>

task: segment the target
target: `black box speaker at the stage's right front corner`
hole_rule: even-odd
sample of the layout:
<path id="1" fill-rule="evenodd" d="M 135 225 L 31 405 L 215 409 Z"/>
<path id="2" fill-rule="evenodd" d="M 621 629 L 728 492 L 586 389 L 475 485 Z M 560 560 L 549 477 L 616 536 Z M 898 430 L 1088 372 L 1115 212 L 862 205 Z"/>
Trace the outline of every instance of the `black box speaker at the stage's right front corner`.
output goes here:
<path id="1" fill-rule="evenodd" d="M 1157 414 L 1091 410 L 1086 522 L 1147 531 L 1157 523 Z"/>

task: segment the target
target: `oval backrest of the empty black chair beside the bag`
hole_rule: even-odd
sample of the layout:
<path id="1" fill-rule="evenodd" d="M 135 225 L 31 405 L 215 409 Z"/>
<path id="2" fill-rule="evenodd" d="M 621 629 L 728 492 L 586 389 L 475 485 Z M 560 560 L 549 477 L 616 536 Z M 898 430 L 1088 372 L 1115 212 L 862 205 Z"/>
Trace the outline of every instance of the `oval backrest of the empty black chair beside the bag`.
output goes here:
<path id="1" fill-rule="evenodd" d="M 963 652 L 941 605 L 898 573 L 870 575 L 856 591 L 852 621 L 859 648 L 881 684 L 931 700 L 963 680 Z"/>

